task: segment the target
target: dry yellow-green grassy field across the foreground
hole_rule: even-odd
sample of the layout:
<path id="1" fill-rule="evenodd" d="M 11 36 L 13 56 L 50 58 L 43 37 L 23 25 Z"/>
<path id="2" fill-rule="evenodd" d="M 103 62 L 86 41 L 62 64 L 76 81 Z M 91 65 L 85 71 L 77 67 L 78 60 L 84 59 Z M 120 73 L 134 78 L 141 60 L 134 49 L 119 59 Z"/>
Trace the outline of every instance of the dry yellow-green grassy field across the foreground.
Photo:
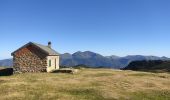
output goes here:
<path id="1" fill-rule="evenodd" d="M 0 77 L 0 100 L 169 100 L 170 74 L 81 69 Z"/>

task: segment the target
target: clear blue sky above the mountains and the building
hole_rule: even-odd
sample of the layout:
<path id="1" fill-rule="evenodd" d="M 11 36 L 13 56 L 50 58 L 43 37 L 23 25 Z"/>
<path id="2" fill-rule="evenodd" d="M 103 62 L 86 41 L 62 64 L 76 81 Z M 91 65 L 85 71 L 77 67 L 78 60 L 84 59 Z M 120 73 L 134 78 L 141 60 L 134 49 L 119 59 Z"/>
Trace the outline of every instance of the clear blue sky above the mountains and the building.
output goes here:
<path id="1" fill-rule="evenodd" d="M 0 0 L 0 59 L 29 41 L 60 53 L 170 57 L 169 0 Z"/>

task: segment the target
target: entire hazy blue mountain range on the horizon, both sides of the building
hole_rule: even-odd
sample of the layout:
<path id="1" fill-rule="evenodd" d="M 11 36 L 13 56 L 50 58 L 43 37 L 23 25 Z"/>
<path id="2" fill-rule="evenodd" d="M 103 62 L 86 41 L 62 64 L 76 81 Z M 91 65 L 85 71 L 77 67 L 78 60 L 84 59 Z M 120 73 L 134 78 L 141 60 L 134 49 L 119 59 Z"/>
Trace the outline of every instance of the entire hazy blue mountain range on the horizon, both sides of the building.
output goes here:
<path id="1" fill-rule="evenodd" d="M 142 61 L 142 60 L 170 60 L 167 57 L 157 57 L 157 56 L 143 56 L 143 55 L 128 55 L 125 57 L 119 56 L 103 56 L 98 53 L 91 51 L 85 52 L 75 52 L 73 54 L 64 53 L 60 55 L 60 65 L 61 66 L 77 66 L 86 65 L 89 67 L 97 68 L 115 68 L 120 69 L 128 66 L 132 61 Z M 12 59 L 0 60 L 0 66 L 12 66 Z"/>

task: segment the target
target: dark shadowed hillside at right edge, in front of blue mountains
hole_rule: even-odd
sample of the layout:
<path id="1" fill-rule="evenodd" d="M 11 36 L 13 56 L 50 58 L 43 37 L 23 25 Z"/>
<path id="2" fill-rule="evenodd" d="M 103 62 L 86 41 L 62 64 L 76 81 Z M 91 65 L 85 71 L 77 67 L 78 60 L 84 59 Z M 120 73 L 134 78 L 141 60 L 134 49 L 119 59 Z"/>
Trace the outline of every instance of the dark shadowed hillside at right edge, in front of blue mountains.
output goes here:
<path id="1" fill-rule="evenodd" d="M 124 69 L 134 71 L 170 72 L 170 61 L 134 61 Z"/>

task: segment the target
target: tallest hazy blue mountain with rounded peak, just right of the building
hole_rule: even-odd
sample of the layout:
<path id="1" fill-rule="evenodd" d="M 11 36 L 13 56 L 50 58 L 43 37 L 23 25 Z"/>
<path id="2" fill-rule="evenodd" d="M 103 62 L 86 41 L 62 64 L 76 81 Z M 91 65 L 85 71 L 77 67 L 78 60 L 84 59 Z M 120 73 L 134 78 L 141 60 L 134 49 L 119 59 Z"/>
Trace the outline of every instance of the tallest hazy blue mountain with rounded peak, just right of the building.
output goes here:
<path id="1" fill-rule="evenodd" d="M 86 51 L 86 52 L 79 51 L 72 55 L 63 54 L 61 55 L 60 64 L 63 66 L 76 66 L 76 65 L 83 64 L 83 65 L 93 66 L 93 67 L 99 67 L 99 66 L 110 67 L 113 65 L 112 61 L 109 58 L 90 51 Z"/>

